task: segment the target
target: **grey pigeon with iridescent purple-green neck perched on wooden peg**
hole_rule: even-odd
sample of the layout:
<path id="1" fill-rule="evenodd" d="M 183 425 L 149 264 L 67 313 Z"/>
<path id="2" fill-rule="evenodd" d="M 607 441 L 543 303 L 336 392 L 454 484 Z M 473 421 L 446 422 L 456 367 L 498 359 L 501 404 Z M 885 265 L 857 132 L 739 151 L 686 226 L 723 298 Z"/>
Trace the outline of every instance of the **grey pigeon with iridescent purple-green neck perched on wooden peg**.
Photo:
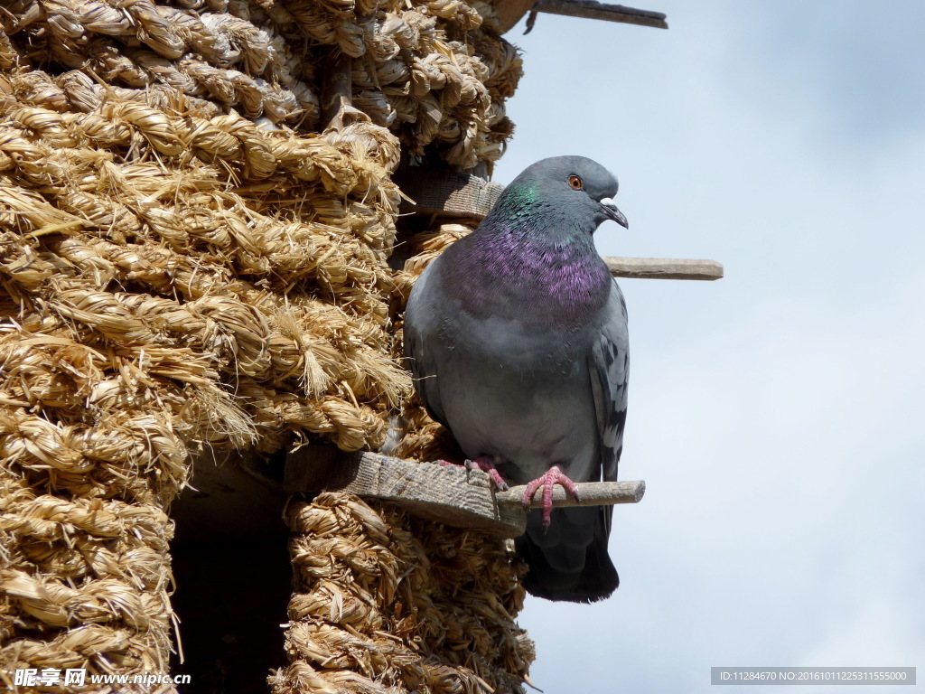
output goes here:
<path id="1" fill-rule="evenodd" d="M 427 412 L 450 428 L 467 464 L 499 486 L 526 484 L 516 551 L 524 587 L 592 602 L 620 579 L 607 551 L 611 506 L 552 508 L 552 490 L 615 480 L 629 366 L 623 293 L 594 247 L 617 180 L 583 156 L 528 167 L 470 235 L 417 279 L 404 352 Z"/>

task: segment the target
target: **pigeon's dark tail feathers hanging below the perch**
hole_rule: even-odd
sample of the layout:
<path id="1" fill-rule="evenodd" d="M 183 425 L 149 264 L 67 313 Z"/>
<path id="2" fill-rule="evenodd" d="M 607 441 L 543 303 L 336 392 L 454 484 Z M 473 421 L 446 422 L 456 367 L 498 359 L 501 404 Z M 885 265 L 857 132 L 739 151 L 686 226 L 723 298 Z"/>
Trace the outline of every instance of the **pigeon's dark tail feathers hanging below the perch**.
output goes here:
<path id="1" fill-rule="evenodd" d="M 553 509 L 544 533 L 542 512 L 527 516 L 526 532 L 514 540 L 530 570 L 524 588 L 553 601 L 596 602 L 610 597 L 620 577 L 607 553 L 611 506 Z"/>

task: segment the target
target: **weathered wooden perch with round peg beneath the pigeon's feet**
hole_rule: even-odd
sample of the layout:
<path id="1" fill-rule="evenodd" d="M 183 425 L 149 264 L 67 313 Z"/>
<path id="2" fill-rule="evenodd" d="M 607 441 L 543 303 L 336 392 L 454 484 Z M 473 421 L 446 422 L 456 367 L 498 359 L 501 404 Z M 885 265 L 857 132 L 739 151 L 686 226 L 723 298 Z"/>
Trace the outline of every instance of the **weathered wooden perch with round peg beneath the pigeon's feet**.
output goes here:
<path id="1" fill-rule="evenodd" d="M 580 502 L 553 491 L 561 506 L 636 503 L 645 482 L 584 482 L 577 485 Z M 343 490 L 358 496 L 398 503 L 409 513 L 454 527 L 487 530 L 516 538 L 526 527 L 520 504 L 524 487 L 495 490 L 481 470 L 456 465 L 412 463 L 371 452 L 342 453 L 328 447 L 307 446 L 290 453 L 285 488 L 289 491 Z M 541 505 L 537 493 L 531 507 Z"/>

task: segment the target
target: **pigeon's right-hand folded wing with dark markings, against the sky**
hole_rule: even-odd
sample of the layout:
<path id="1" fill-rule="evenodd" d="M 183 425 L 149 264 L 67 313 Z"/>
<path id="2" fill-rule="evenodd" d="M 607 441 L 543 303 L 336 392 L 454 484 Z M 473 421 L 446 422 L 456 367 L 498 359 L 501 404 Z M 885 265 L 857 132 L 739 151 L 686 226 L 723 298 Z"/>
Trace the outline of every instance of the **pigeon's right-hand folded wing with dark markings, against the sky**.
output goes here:
<path id="1" fill-rule="evenodd" d="M 629 366 L 626 302 L 623 300 L 623 292 L 614 280 L 600 335 L 588 357 L 591 388 L 594 390 L 594 408 L 598 415 L 601 467 L 607 481 L 616 480 L 617 464 L 620 462 L 620 453 L 623 452 Z"/>

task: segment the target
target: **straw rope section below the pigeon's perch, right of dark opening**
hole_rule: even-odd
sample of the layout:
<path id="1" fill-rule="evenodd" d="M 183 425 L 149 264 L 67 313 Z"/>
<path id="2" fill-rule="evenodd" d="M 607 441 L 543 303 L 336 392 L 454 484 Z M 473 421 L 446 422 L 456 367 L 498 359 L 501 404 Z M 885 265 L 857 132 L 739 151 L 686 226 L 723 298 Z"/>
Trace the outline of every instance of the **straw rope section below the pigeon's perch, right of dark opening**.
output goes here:
<path id="1" fill-rule="evenodd" d="M 522 691 L 524 564 L 499 539 L 321 494 L 287 514 L 292 663 L 272 691 Z"/>

